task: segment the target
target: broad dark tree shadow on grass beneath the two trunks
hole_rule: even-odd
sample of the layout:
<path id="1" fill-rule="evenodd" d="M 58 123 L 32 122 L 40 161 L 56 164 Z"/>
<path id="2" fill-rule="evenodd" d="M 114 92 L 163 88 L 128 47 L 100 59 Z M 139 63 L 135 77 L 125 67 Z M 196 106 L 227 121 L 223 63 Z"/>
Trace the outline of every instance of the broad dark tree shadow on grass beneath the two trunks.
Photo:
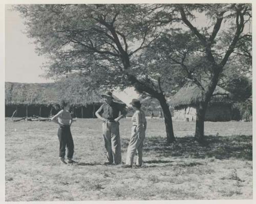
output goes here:
<path id="1" fill-rule="evenodd" d="M 204 159 L 215 157 L 216 159 L 243 159 L 252 161 L 252 136 L 205 136 L 207 146 L 201 146 L 193 136 L 176 138 L 174 144 L 167 144 L 163 137 L 146 138 L 143 144 L 144 155 L 151 152 L 157 157 L 182 157 Z M 127 148 L 129 140 L 122 141 L 123 148 Z M 159 163 L 147 161 L 148 163 Z M 160 161 L 161 162 L 161 161 Z M 162 161 L 163 163 L 165 161 Z"/>

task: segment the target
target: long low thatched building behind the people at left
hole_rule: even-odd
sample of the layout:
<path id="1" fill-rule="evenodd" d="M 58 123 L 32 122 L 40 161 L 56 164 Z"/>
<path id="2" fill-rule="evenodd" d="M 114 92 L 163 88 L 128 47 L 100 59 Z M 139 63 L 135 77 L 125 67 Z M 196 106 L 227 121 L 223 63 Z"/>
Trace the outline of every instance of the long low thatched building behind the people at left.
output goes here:
<path id="1" fill-rule="evenodd" d="M 114 96 L 115 100 L 125 104 Z M 56 114 L 60 99 L 68 99 L 71 103 L 73 117 L 95 118 L 95 112 L 101 106 L 103 99 L 96 91 L 90 94 L 75 92 L 73 95 L 63 95 L 63 90 L 56 83 L 5 83 L 5 116 L 11 117 L 16 111 L 16 117 L 49 117 Z"/>

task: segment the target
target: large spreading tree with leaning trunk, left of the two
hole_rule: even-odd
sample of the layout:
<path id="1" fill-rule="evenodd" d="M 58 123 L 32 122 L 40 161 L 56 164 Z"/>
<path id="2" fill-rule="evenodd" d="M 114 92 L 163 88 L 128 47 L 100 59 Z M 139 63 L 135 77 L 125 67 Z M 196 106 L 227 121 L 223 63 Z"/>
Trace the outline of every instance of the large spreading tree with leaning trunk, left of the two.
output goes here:
<path id="1" fill-rule="evenodd" d="M 172 116 L 157 70 L 148 74 L 141 51 L 161 33 L 161 5 L 17 5 L 49 77 L 79 71 L 92 87 L 134 86 L 157 98 L 164 112 L 167 142 L 175 141 Z M 144 63 L 144 62 L 141 62 Z"/>

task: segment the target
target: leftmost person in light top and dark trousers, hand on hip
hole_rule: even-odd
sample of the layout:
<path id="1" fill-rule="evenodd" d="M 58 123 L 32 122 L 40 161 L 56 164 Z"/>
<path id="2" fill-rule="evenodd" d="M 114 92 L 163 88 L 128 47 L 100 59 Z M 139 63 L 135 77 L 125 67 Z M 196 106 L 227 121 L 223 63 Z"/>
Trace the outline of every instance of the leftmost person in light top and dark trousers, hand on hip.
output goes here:
<path id="1" fill-rule="evenodd" d="M 60 107 L 62 110 L 51 118 L 51 121 L 59 125 L 59 159 L 64 164 L 73 164 L 75 161 L 72 160 L 74 155 L 74 142 L 70 130 L 70 126 L 72 124 L 72 117 L 69 112 L 70 104 L 65 100 L 61 100 Z M 67 162 L 65 161 L 66 146 L 68 149 Z"/>

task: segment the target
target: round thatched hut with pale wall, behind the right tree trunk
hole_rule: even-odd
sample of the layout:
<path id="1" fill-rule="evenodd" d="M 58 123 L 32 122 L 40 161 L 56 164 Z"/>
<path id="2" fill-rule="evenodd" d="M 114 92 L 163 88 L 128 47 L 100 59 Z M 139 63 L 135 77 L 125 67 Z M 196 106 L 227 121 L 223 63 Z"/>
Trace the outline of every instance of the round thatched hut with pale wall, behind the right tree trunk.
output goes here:
<path id="1" fill-rule="evenodd" d="M 229 121 L 232 119 L 232 101 L 229 92 L 217 86 L 208 104 L 205 121 Z M 199 87 L 192 83 L 185 84 L 170 99 L 170 105 L 175 108 L 174 119 L 195 121 L 202 93 Z"/>

